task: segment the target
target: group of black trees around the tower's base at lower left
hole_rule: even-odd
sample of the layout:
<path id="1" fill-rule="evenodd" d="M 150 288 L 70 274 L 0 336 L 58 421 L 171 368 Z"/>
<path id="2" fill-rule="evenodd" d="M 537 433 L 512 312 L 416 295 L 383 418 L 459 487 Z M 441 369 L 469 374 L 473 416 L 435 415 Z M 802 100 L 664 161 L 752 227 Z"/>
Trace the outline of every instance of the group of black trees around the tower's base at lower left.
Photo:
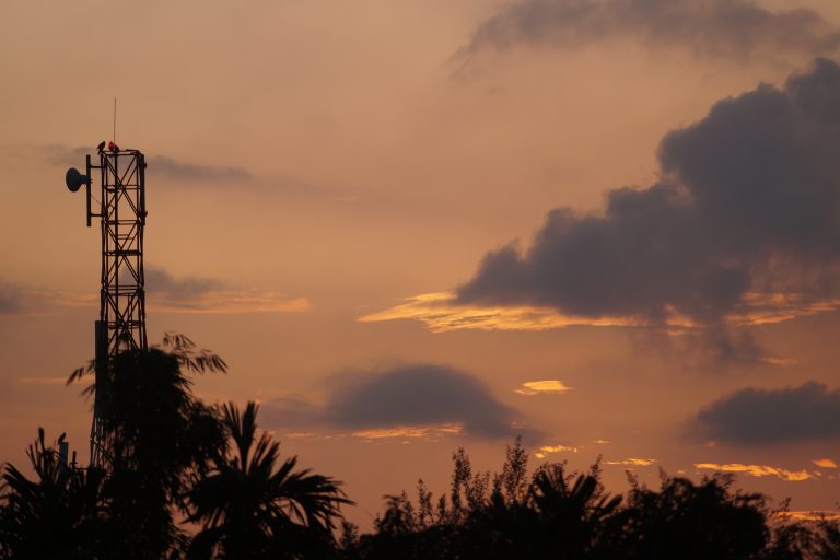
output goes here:
<path id="1" fill-rule="evenodd" d="M 335 550 L 338 506 L 351 503 L 339 482 L 295 470 L 296 457 L 281 460 L 276 442 L 256 436 L 254 404 L 241 415 L 232 404 L 211 407 L 192 394 L 185 373 L 226 368 L 187 337 L 167 334 L 160 347 L 120 352 L 106 371 L 96 372 L 92 362 L 74 371 L 68 383 L 96 374 L 84 394 L 101 422 L 102 466 L 61 463 L 39 431 L 27 453 L 34 479 L 3 467 L 0 559 L 160 559 L 201 551 L 258 558 L 266 550 L 272 558 L 299 558 L 301 550 Z M 191 538 L 178 516 L 202 522 L 205 530 Z"/>

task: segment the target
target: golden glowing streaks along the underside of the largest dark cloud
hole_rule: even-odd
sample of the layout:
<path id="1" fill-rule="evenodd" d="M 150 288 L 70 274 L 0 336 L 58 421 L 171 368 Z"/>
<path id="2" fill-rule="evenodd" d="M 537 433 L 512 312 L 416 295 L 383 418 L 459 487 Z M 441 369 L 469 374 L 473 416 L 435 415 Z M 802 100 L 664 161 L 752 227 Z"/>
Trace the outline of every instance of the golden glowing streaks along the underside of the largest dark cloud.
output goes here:
<path id="1" fill-rule="evenodd" d="M 840 300 L 809 301 L 802 294 L 749 293 L 725 323 L 735 326 L 768 325 L 840 308 Z M 664 322 L 641 317 L 586 317 L 567 315 L 552 307 L 534 305 L 465 305 L 456 303 L 453 292 L 434 292 L 407 298 L 394 307 L 363 315 L 357 320 L 415 319 L 433 332 L 460 329 L 548 330 L 574 326 L 591 327 L 667 327 L 672 334 L 697 328 L 689 317 L 672 313 Z"/>

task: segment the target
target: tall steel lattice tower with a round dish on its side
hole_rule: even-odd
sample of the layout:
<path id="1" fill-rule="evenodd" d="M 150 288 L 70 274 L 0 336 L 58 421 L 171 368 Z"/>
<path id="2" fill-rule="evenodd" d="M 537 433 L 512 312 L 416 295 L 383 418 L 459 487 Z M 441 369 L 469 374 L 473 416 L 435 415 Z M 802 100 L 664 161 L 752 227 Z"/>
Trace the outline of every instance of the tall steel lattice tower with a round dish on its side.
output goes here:
<path id="1" fill-rule="evenodd" d="M 116 108 L 116 100 L 115 100 Z M 103 463 L 105 433 L 102 398 L 108 390 L 108 368 L 126 350 L 145 350 L 145 280 L 143 228 L 145 226 L 145 156 L 139 150 L 120 150 L 110 142 L 98 147 L 98 165 L 86 159 L 86 175 L 67 172 L 67 186 L 86 185 L 88 226 L 100 218 L 102 268 L 100 318 L 95 324 L 95 397 L 91 427 L 91 466 Z M 98 212 L 91 209 L 92 170 L 98 170 Z"/>

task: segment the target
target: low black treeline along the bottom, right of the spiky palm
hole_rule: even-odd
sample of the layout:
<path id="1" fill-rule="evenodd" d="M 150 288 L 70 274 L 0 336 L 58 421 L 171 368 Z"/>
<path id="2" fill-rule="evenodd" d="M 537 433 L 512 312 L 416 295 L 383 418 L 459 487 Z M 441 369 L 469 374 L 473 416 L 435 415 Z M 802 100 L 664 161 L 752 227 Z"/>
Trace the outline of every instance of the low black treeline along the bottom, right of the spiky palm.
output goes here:
<path id="1" fill-rule="evenodd" d="M 474 472 L 464 450 L 453 454 L 447 494 L 422 480 L 415 500 L 386 497 L 373 533 L 345 529 L 348 559 L 686 559 L 837 560 L 840 524 L 797 522 L 763 495 L 734 489 L 730 475 L 692 482 L 661 475 L 657 489 L 628 476 L 626 495 L 609 494 L 599 462 L 586 472 L 564 464 L 527 474 L 517 440 L 500 472 Z"/>

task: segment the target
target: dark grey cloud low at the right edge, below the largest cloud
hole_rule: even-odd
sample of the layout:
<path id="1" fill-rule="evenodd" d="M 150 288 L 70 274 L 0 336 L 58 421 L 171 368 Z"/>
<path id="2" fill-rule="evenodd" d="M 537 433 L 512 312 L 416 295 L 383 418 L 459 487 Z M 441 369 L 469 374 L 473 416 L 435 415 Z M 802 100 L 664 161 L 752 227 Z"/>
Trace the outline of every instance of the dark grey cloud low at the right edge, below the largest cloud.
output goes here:
<path id="1" fill-rule="evenodd" d="M 738 390 L 702 409 L 690 434 L 737 445 L 838 440 L 840 390 L 816 382 Z"/>

